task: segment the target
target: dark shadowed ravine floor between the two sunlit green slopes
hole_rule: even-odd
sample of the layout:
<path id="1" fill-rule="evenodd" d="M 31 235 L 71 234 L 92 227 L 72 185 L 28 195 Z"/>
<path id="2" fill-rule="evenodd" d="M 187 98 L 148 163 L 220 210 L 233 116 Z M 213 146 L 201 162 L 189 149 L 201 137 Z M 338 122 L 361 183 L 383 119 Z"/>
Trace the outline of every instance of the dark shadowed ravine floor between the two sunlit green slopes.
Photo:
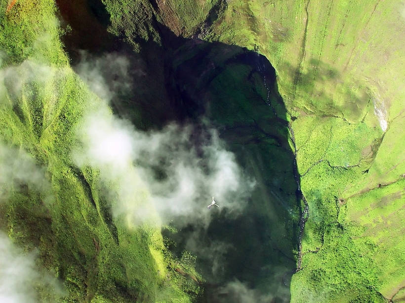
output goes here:
<path id="1" fill-rule="evenodd" d="M 170 121 L 215 128 L 257 182 L 238 218 L 231 220 L 225 212 L 211 210 L 214 219 L 208 228 L 163 230 L 176 243 L 170 248 L 177 256 L 184 249 L 197 255 L 197 267 L 207 281 L 201 302 L 235 302 L 235 290 L 228 287 L 235 280 L 255 290 L 249 293 L 254 302 L 288 302 L 300 202 L 286 110 L 268 60 L 241 47 L 177 37 L 158 23 L 154 26 L 162 45 L 139 41 L 141 51 L 135 53 L 123 39 L 106 31 L 106 13 L 100 12 L 100 6 L 91 10 L 84 0 L 75 0 L 77 5 L 57 3 L 72 27 L 64 41 L 73 64 L 80 62 L 79 50 L 89 57 L 114 53 L 129 61 L 131 85 L 112 99 L 117 114 L 142 130 L 159 129 Z M 101 70 L 106 85 L 112 79 L 127 81 L 114 70 L 114 66 Z M 208 198 L 212 195 L 207 193 Z M 202 211 L 208 211 L 205 203 Z M 220 258 L 206 255 L 204 248 L 217 243 L 222 246 L 208 251 L 217 251 Z"/>

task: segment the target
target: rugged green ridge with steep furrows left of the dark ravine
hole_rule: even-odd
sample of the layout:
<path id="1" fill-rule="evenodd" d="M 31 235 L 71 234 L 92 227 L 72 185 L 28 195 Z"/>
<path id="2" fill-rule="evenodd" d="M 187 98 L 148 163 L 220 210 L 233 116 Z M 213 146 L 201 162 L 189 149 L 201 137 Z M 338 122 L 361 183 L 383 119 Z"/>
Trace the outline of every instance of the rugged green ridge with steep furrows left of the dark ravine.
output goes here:
<path id="1" fill-rule="evenodd" d="M 74 165 L 81 117 L 101 101 L 69 66 L 55 4 L 17 1 L 5 14 L 6 4 L 0 5 L 1 144 L 8 154 L 28 153 L 44 185 L 24 178 L 1 184 L 7 193 L 1 229 L 26 251 L 39 249 L 45 271 L 67 290 L 60 302 L 190 302 L 199 287 L 175 271 L 179 262 L 160 230 L 128 229 L 113 219 L 97 170 Z M 1 154 L 3 169 L 8 154 Z"/>

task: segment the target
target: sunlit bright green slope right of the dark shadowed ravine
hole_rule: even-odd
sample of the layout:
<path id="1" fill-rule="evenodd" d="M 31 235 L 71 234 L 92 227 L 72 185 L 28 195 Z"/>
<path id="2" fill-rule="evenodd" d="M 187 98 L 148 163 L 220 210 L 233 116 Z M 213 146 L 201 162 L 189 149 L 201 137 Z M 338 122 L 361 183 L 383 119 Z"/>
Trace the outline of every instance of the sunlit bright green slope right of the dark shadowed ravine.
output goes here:
<path id="1" fill-rule="evenodd" d="M 292 301 L 395 300 L 404 287 L 403 1 L 206 3 L 154 9 L 177 35 L 256 50 L 277 70 L 309 205 Z"/>

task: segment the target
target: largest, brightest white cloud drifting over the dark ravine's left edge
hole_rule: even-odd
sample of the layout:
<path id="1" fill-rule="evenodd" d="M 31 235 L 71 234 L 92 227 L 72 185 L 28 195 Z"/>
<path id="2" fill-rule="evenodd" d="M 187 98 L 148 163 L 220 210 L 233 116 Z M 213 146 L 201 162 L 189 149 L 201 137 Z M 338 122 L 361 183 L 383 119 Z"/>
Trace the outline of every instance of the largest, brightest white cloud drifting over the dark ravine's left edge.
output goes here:
<path id="1" fill-rule="evenodd" d="M 254 186 L 214 130 L 172 124 L 141 132 L 100 102 L 83 119 L 78 137 L 76 164 L 99 170 L 114 214 L 134 225 L 173 219 L 206 225 L 212 196 L 221 205 L 215 211 L 237 215 Z"/>

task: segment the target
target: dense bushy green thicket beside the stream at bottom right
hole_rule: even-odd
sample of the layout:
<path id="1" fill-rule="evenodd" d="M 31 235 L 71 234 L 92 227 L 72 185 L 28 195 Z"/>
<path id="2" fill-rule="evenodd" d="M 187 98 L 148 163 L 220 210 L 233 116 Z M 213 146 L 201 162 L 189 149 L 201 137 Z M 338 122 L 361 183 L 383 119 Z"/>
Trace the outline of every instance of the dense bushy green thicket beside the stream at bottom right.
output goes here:
<path id="1" fill-rule="evenodd" d="M 353 227 L 337 222 L 325 227 L 323 245 L 307 252 L 304 269 L 293 275 L 294 302 L 385 302 L 370 286 L 381 274 L 368 256 L 375 245 L 356 243 L 352 234 Z"/>

